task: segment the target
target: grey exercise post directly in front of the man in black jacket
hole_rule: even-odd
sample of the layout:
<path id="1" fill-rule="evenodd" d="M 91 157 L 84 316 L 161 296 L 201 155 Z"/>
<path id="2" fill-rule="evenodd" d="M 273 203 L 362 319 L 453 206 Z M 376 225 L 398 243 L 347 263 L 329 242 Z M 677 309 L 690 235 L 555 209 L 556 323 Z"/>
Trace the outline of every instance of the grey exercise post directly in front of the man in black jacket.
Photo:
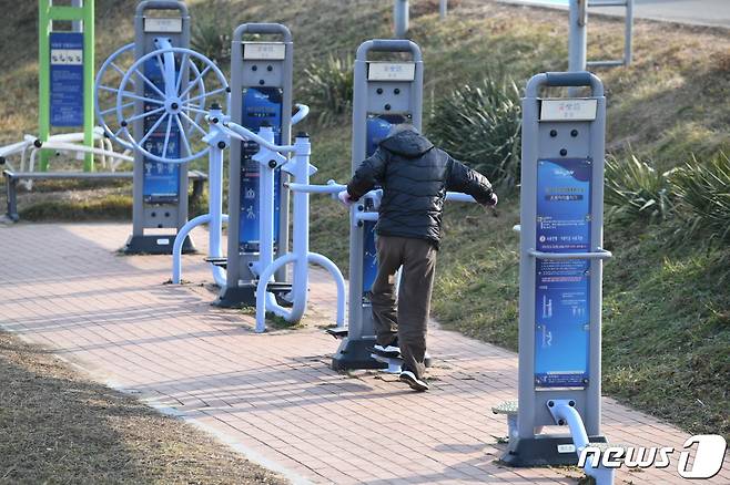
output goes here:
<path id="1" fill-rule="evenodd" d="M 369 61 L 368 54 L 409 55 L 408 61 Z M 420 49 L 407 40 L 369 40 L 357 49 L 354 66 L 352 171 L 377 148 L 394 124 L 409 123 L 420 130 L 423 106 L 423 59 Z M 345 186 L 331 184 L 320 192 L 336 193 Z M 464 194 L 449 194 L 452 200 L 474 202 Z M 331 329 L 342 338 L 333 358 L 335 370 L 383 369 L 398 362 L 382 362 L 372 355 L 375 330 L 371 288 L 377 272 L 375 224 L 381 190 L 372 190 L 351 208 L 349 227 L 349 313 L 347 328 Z"/>

